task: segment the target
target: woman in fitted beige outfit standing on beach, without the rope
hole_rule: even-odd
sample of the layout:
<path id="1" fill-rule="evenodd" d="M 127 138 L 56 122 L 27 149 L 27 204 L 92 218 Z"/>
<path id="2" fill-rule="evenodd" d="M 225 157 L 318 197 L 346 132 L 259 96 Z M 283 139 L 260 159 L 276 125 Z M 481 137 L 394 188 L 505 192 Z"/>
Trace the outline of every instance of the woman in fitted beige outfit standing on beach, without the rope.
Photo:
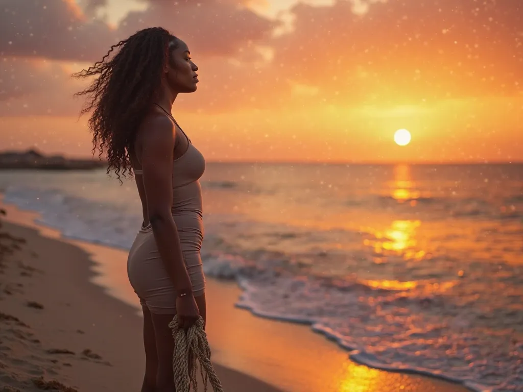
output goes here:
<path id="1" fill-rule="evenodd" d="M 119 48 L 111 60 L 111 52 Z M 187 45 L 163 28 L 147 28 L 111 47 L 76 77 L 95 76 L 88 95 L 94 149 L 108 169 L 134 172 L 143 223 L 129 252 L 128 275 L 143 309 L 142 392 L 173 392 L 174 340 L 168 327 L 205 321 L 199 178 L 205 160 L 170 112 L 179 93 L 196 91 L 198 67 Z M 121 181 L 121 180 L 120 180 Z"/>

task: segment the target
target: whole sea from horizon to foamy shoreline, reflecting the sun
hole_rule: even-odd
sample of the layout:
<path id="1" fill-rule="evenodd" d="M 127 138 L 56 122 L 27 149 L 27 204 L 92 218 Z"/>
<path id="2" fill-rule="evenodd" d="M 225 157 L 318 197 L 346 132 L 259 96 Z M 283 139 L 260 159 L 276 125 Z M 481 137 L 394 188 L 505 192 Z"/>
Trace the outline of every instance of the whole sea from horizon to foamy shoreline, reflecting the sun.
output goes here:
<path id="1" fill-rule="evenodd" d="M 209 163 L 207 276 L 237 306 L 310 325 L 350 357 L 476 391 L 523 391 L 523 164 Z M 129 249 L 133 179 L 0 171 L 4 201 Z"/>

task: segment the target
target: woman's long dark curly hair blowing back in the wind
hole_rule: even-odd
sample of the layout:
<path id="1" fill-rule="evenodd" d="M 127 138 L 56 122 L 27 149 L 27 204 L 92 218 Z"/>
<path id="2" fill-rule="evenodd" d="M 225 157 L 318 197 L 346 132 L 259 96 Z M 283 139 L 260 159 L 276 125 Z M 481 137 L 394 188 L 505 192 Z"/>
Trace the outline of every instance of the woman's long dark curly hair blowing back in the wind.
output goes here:
<path id="1" fill-rule="evenodd" d="M 94 109 L 88 122 L 93 155 L 98 149 L 101 160 L 106 153 L 107 174 L 114 170 L 120 183 L 120 175 L 132 175 L 129 152 L 138 126 L 160 90 L 162 69 L 176 41 L 164 28 L 146 28 L 112 45 L 101 61 L 72 75 L 95 76 L 89 87 L 74 96 L 88 97 L 80 116 Z M 116 48 L 118 52 L 107 60 Z"/>

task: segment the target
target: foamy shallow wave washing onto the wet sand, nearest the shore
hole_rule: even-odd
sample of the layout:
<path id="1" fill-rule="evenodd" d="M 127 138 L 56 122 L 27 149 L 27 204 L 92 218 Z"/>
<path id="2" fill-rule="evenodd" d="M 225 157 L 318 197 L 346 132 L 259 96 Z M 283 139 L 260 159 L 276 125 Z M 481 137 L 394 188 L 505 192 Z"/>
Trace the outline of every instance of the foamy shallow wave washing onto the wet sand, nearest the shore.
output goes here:
<path id="1" fill-rule="evenodd" d="M 402 286 L 322 279 L 225 255 L 208 258 L 204 265 L 209 276 L 240 284 L 238 307 L 260 317 L 310 325 L 357 362 L 440 377 L 476 391 L 523 386 L 523 342 L 481 328 L 473 303 L 453 301 L 460 295 L 455 290 L 459 282 Z M 523 322 L 523 309 L 511 315 L 512 323 Z"/>

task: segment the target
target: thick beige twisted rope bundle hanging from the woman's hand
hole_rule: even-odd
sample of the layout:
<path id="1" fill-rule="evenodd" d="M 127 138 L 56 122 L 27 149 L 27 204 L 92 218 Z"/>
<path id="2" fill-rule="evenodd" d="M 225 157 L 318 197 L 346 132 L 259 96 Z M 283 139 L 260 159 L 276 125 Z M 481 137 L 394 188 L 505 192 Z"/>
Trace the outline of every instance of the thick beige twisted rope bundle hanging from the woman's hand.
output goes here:
<path id="1" fill-rule="evenodd" d="M 196 361 L 200 362 L 203 391 L 207 392 L 207 382 L 210 381 L 214 392 L 223 392 L 222 384 L 212 367 L 211 348 L 203 329 L 203 319 L 200 317 L 186 332 L 178 327 L 178 316 L 174 316 L 173 321 L 169 322 L 169 328 L 172 329 L 174 338 L 173 373 L 176 392 L 189 392 L 191 384 L 195 392 L 198 392 Z"/>

